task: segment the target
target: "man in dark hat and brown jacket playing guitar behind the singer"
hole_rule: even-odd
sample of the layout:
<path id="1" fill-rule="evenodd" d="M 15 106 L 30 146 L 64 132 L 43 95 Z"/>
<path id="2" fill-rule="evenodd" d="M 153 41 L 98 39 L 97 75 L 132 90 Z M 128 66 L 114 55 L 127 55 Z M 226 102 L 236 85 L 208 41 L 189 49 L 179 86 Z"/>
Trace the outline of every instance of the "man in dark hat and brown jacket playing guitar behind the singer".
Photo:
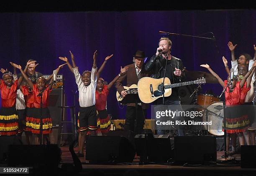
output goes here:
<path id="1" fill-rule="evenodd" d="M 129 69 L 119 77 L 119 79 L 115 82 L 115 87 L 119 94 L 122 97 L 125 97 L 127 93 L 123 88 L 122 81 L 126 78 L 127 87 L 130 87 L 132 84 L 138 84 L 138 80 L 142 77 L 148 77 L 149 74 L 145 71 L 143 64 L 145 59 L 144 51 L 136 51 L 135 55 L 133 55 L 133 62 L 130 65 L 127 65 Z M 125 66 L 126 67 L 126 66 Z M 148 109 L 148 104 L 138 103 L 137 109 L 137 121 L 136 120 L 136 106 L 135 103 L 127 104 L 126 109 L 126 120 L 125 120 L 125 130 L 134 131 L 136 134 L 141 134 L 143 131 L 144 120 L 146 118 L 146 109 Z"/>

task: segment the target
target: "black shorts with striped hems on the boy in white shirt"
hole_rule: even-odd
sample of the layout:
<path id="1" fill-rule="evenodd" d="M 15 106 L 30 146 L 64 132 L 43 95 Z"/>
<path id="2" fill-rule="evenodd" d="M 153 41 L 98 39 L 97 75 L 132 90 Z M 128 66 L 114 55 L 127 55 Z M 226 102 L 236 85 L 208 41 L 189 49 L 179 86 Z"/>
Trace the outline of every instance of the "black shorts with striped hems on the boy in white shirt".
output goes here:
<path id="1" fill-rule="evenodd" d="M 96 107 L 80 107 L 79 110 L 79 131 L 86 131 L 87 129 L 97 129 L 97 113 Z"/>

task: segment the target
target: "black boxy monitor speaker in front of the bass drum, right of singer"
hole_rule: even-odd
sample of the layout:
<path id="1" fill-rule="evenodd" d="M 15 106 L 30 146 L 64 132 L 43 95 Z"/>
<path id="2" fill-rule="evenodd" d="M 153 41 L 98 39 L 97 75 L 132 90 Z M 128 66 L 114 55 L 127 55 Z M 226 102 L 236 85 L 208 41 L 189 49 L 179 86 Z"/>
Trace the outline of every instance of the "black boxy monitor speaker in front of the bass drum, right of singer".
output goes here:
<path id="1" fill-rule="evenodd" d="M 176 164 L 204 164 L 216 162 L 216 136 L 174 137 L 174 160 Z"/>

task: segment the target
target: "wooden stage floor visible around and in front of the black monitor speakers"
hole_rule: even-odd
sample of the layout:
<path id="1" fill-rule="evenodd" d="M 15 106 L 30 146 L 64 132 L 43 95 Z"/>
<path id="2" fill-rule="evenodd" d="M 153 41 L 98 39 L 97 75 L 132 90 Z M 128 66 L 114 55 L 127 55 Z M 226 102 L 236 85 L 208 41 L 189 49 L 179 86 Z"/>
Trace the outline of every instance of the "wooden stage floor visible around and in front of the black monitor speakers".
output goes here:
<path id="1" fill-rule="evenodd" d="M 61 147 L 61 163 L 73 163 L 72 156 L 69 152 L 68 147 Z M 74 148 L 74 151 L 77 153 L 77 147 Z M 85 152 L 86 153 L 86 152 Z M 224 161 L 224 158 L 221 156 L 224 154 L 224 151 L 217 151 L 217 160 Z M 235 154 L 232 158 L 239 161 L 241 159 L 240 154 Z M 85 160 L 85 157 L 79 157 L 79 160 L 82 163 L 82 171 L 80 174 L 85 175 L 94 175 L 94 174 L 103 174 L 103 175 L 124 175 L 124 173 L 132 176 L 137 175 L 166 175 L 166 174 L 175 174 L 177 175 L 205 175 L 207 176 L 216 176 L 216 175 L 225 175 L 225 176 L 237 176 L 237 175 L 255 175 L 256 169 L 243 169 L 241 166 L 175 166 L 175 165 L 164 165 L 164 164 L 147 164 L 139 165 L 139 157 L 135 156 L 133 164 L 113 164 L 113 165 L 102 165 L 102 164 L 89 164 L 89 161 Z M 80 175 L 79 174 L 79 175 Z"/>

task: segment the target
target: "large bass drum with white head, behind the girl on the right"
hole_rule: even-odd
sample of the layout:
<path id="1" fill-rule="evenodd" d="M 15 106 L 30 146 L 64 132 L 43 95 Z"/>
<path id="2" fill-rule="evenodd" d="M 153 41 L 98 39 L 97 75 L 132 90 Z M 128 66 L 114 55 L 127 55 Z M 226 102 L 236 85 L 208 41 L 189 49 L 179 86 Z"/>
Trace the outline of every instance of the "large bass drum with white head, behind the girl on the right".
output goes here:
<path id="1" fill-rule="evenodd" d="M 207 109 L 207 110 L 206 110 Z M 222 121 L 223 121 L 223 102 L 211 103 L 205 109 L 203 121 L 212 121 L 212 125 L 208 125 L 208 132 L 215 136 L 223 136 L 224 131 L 222 131 Z M 207 126 L 205 125 L 205 129 Z"/>

